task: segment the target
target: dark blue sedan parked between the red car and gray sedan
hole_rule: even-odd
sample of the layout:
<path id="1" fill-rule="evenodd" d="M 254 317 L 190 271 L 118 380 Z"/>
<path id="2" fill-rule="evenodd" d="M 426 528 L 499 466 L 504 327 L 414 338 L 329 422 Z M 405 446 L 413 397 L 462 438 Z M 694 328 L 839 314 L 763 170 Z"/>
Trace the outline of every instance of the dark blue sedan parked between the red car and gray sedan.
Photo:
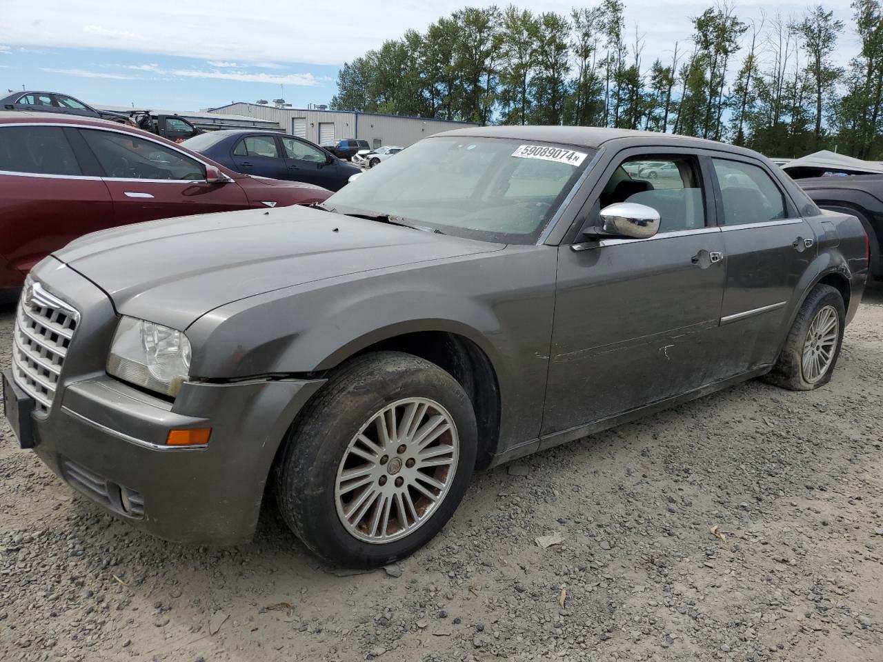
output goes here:
<path id="1" fill-rule="evenodd" d="M 329 191 L 337 191 L 360 171 L 309 140 L 279 133 L 206 132 L 182 145 L 246 175 L 306 182 Z"/>

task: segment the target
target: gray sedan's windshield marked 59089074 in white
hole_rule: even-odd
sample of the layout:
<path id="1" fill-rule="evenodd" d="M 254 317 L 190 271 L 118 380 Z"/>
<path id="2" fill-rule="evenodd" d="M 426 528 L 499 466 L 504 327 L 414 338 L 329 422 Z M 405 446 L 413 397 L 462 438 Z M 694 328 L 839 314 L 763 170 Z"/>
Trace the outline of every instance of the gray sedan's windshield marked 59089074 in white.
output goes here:
<path id="1" fill-rule="evenodd" d="M 514 139 L 428 138 L 347 184 L 324 207 L 393 214 L 458 237 L 532 244 L 594 152 Z"/>

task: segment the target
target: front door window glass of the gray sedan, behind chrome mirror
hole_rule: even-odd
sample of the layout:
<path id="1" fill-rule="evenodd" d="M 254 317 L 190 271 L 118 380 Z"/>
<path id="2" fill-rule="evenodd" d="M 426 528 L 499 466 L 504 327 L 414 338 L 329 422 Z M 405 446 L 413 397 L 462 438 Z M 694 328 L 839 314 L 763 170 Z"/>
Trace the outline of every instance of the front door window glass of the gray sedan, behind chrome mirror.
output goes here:
<path id="1" fill-rule="evenodd" d="M 642 156 L 622 162 L 600 195 L 600 207 L 635 202 L 660 214 L 660 232 L 706 225 L 698 162 L 692 158 Z"/>

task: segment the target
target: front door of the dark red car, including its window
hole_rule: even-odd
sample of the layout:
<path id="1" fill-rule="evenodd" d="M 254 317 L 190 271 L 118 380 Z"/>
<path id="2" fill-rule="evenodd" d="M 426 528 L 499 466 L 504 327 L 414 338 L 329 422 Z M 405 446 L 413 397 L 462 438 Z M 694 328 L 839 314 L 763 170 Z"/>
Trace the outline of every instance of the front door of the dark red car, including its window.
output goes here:
<path id="1" fill-rule="evenodd" d="M 249 207 L 238 184 L 208 183 L 189 154 L 128 132 L 78 132 L 101 166 L 117 225 Z"/>

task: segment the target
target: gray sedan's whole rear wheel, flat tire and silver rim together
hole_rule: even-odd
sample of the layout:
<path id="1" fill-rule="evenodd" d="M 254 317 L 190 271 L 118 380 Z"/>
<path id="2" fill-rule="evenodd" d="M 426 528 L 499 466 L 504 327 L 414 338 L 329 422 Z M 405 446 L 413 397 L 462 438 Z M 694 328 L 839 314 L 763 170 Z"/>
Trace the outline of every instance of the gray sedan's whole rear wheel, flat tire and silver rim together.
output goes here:
<path id="1" fill-rule="evenodd" d="M 833 317 L 830 317 L 832 313 Z M 813 321 L 817 318 L 826 321 L 813 327 Z M 812 337 L 818 337 L 819 327 L 824 330 L 824 327 L 831 322 L 834 323 L 831 333 L 835 330 L 836 337 L 831 341 L 830 334 L 826 332 L 824 337 L 829 342 L 823 342 L 819 348 L 819 342 L 812 342 Z M 785 340 L 785 346 L 782 347 L 773 370 L 766 375 L 766 381 L 792 391 L 811 391 L 828 383 L 834 372 L 834 366 L 837 365 L 837 358 L 840 357 L 845 326 L 846 308 L 841 293 L 830 285 L 816 285 L 800 306 L 794 325 Z M 808 337 L 811 332 L 812 337 Z M 811 343 L 809 346 L 807 346 L 808 342 Z M 817 348 L 816 353 L 819 355 L 819 364 L 815 367 L 811 358 L 804 363 L 806 357 L 804 348 L 810 351 L 812 347 Z M 829 348 L 829 354 L 826 348 Z M 820 373 L 814 373 L 814 371 L 818 372 L 819 365 L 824 369 Z"/>

